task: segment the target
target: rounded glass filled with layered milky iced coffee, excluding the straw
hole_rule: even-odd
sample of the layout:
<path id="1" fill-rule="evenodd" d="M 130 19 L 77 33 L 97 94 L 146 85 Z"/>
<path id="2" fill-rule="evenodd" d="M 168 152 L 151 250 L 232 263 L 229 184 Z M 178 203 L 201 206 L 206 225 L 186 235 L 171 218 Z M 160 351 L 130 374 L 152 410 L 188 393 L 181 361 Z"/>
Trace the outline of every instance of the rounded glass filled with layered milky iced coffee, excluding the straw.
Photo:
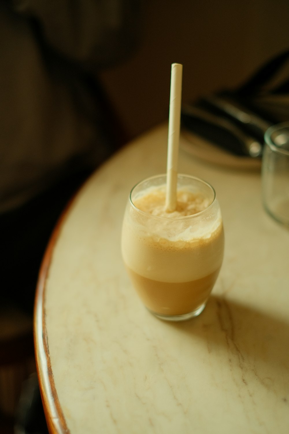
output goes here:
<path id="1" fill-rule="evenodd" d="M 162 319 L 183 320 L 205 308 L 224 252 L 221 211 L 205 181 L 178 175 L 177 206 L 165 207 L 166 175 L 137 184 L 122 230 L 122 255 L 143 304 Z"/>

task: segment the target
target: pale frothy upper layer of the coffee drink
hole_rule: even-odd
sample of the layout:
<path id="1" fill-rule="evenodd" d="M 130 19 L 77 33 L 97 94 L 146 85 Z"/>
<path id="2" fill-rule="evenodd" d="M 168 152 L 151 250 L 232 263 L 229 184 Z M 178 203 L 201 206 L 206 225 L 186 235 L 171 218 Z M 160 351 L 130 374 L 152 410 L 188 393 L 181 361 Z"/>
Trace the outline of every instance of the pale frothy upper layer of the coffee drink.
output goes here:
<path id="1" fill-rule="evenodd" d="M 150 188 L 133 200 L 143 212 L 132 208 L 127 213 L 122 253 L 126 265 L 140 276 L 159 282 L 188 282 L 221 266 L 221 214 L 213 208 L 205 216 L 196 214 L 210 205 L 202 194 L 182 188 L 177 199 L 174 213 L 165 210 L 165 186 Z"/>

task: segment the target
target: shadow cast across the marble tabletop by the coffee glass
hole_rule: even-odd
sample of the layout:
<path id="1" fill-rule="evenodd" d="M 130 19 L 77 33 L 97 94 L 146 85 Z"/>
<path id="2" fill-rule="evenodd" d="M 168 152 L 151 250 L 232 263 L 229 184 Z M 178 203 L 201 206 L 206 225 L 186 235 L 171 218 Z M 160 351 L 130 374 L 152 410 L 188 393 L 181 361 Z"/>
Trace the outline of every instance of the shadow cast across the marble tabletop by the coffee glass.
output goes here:
<path id="1" fill-rule="evenodd" d="M 170 323 L 207 343 L 208 357 L 221 357 L 253 387 L 257 381 L 289 404 L 289 323 L 230 299 L 211 296 L 195 319 Z"/>

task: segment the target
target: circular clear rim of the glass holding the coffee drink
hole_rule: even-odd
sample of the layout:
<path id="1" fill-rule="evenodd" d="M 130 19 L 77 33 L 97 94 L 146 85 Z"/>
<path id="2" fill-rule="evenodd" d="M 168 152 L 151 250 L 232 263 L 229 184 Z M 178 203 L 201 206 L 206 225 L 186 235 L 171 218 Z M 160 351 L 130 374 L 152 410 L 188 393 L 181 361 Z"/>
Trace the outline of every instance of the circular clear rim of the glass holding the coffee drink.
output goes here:
<path id="1" fill-rule="evenodd" d="M 130 191 L 129 201 L 130 201 L 130 204 L 132 205 L 132 207 L 133 207 L 136 211 L 138 211 L 140 214 L 144 214 L 145 216 L 153 217 L 153 218 L 155 218 L 155 219 L 160 219 L 160 220 L 172 220 L 172 219 L 173 219 L 173 220 L 179 220 L 179 219 L 189 219 L 189 218 L 199 217 L 201 214 L 204 214 L 204 213 L 207 212 L 208 209 L 211 208 L 211 207 L 213 206 L 213 204 L 215 203 L 215 201 L 216 201 L 216 192 L 215 192 L 215 190 L 214 190 L 214 187 L 211 186 L 211 184 L 209 184 L 207 181 L 204 181 L 204 180 L 201 179 L 201 178 L 198 178 L 197 176 L 187 175 L 187 174 L 183 174 L 183 173 L 178 173 L 178 175 L 177 175 L 178 178 L 179 178 L 179 177 L 184 177 L 184 178 L 190 178 L 190 179 L 193 179 L 193 180 L 195 180 L 195 181 L 200 181 L 202 184 L 207 185 L 207 186 L 211 189 L 211 191 L 213 192 L 213 200 L 211 201 L 211 204 L 210 204 L 208 207 L 206 207 L 204 210 L 199 211 L 198 213 L 191 214 L 191 215 L 188 215 L 188 216 L 179 216 L 179 217 L 154 216 L 153 214 L 148 214 L 148 213 L 146 213 L 145 211 L 140 210 L 138 207 L 136 207 L 136 205 L 133 203 L 133 201 L 132 201 L 132 197 L 131 197 L 132 194 L 133 194 L 134 189 L 135 189 L 138 185 L 142 184 L 144 181 L 149 181 L 149 180 L 152 180 L 152 179 L 161 178 L 161 177 L 166 177 L 166 176 L 167 176 L 166 173 L 162 173 L 162 174 L 158 174 L 158 175 L 149 176 L 148 178 L 143 178 L 141 181 L 137 182 L 137 183 L 133 186 L 133 188 L 132 188 L 131 191 Z"/>

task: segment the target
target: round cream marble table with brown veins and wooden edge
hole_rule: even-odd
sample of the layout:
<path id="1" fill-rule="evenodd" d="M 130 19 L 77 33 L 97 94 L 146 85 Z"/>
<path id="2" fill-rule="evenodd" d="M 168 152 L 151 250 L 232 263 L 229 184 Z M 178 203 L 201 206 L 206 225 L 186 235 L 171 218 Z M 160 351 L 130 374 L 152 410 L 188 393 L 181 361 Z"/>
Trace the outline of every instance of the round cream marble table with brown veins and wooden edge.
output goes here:
<path id="1" fill-rule="evenodd" d="M 186 139 L 181 137 L 181 144 Z M 55 228 L 36 296 L 36 362 L 51 433 L 288 433 L 289 231 L 260 200 L 260 172 L 180 150 L 210 182 L 225 255 L 204 312 L 152 316 L 120 254 L 130 188 L 166 171 L 167 125 L 97 170 Z"/>

